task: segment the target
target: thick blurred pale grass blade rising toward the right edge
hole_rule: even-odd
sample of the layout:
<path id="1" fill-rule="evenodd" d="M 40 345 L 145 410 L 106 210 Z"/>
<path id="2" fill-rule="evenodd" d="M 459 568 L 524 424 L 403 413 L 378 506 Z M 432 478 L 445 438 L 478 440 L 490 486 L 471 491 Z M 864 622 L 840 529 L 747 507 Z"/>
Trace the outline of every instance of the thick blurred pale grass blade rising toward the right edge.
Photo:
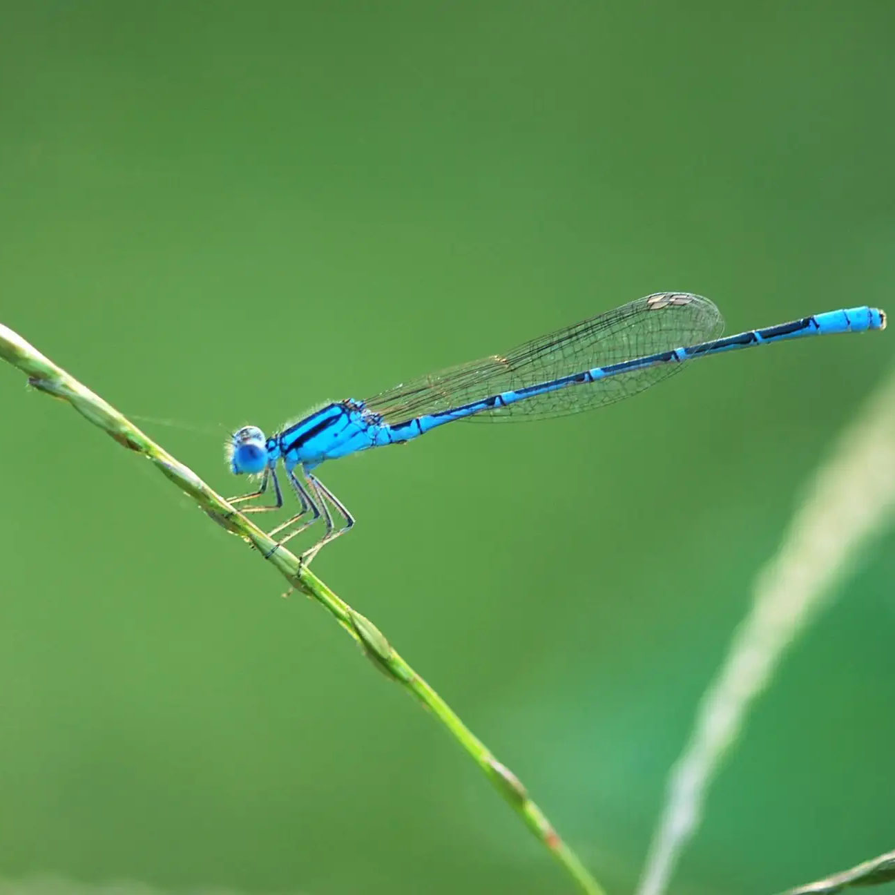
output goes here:
<path id="1" fill-rule="evenodd" d="M 660 895 L 700 823 L 706 791 L 754 698 L 895 507 L 895 375 L 876 389 L 817 470 L 780 550 L 757 576 L 717 678 L 703 695 L 690 741 L 671 771 L 639 895 Z"/>

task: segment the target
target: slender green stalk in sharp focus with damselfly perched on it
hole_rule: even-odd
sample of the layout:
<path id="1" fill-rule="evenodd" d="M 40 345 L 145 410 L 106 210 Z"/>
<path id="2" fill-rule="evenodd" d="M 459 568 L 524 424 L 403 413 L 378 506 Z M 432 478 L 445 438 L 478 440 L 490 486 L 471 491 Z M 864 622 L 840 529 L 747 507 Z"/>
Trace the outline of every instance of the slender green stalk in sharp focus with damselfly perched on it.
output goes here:
<path id="1" fill-rule="evenodd" d="M 385 635 L 369 618 L 364 618 L 340 599 L 320 581 L 317 575 L 307 567 L 303 567 L 298 558 L 285 547 L 280 547 L 271 553 L 276 541 L 262 532 L 257 525 L 252 524 L 215 490 L 209 488 L 196 473 L 192 472 L 192 469 L 178 462 L 163 447 L 149 439 L 123 413 L 107 404 L 90 391 L 90 388 L 81 385 L 77 379 L 56 366 L 33 345 L 3 324 L 0 324 L 0 356 L 24 372 L 31 386 L 47 395 L 67 401 L 78 413 L 87 417 L 100 429 L 107 431 L 122 447 L 145 456 L 218 524 L 250 543 L 257 549 L 259 556 L 268 558 L 289 584 L 328 609 L 339 625 L 361 644 L 363 651 L 380 670 L 436 715 L 482 768 L 499 793 L 513 806 L 516 814 L 519 814 L 534 835 L 550 849 L 550 853 L 575 880 L 579 889 L 588 895 L 603 895 L 599 883 L 588 873 L 575 852 L 559 838 L 546 815 L 533 802 L 516 774 L 499 763 L 487 746 L 465 726 L 450 706 L 398 655 Z"/>

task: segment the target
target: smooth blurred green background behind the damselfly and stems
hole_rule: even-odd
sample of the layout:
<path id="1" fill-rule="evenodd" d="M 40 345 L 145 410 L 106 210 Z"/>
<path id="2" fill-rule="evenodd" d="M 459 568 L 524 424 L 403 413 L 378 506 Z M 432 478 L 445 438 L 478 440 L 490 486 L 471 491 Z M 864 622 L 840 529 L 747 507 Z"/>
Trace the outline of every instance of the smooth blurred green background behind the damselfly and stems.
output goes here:
<path id="1" fill-rule="evenodd" d="M 654 291 L 889 306 L 886 3 L 4 4 L 3 320 L 224 493 L 226 433 Z M 329 465 L 318 574 L 631 891 L 752 577 L 891 336 Z M 571 891 L 456 743 L 149 464 L 0 371 L 0 875 Z M 895 536 L 759 703 L 676 880 L 895 846 Z"/>

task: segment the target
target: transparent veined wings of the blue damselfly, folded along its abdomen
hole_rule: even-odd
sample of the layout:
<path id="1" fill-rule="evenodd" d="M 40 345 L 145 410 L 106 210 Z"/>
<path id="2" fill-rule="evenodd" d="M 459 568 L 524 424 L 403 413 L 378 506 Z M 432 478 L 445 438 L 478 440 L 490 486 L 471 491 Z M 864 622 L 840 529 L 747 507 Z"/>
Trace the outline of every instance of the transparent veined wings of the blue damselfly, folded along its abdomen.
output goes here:
<path id="1" fill-rule="evenodd" d="M 365 404 L 381 413 L 385 422 L 403 422 L 594 367 L 706 342 L 720 336 L 723 328 L 720 311 L 707 298 L 685 293 L 648 295 L 525 342 L 507 354 L 494 354 L 401 383 Z M 663 363 L 621 373 L 495 407 L 468 419 L 513 421 L 578 413 L 635 395 L 680 368 L 679 363 Z"/>

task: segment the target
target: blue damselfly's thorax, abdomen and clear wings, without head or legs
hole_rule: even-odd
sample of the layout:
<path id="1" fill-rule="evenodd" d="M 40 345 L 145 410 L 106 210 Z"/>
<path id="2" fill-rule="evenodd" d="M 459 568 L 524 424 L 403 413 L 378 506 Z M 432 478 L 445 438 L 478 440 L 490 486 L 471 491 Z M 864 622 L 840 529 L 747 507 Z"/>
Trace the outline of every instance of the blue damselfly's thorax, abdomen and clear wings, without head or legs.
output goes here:
<path id="1" fill-rule="evenodd" d="M 279 433 L 276 443 L 287 465 L 310 468 L 369 447 L 408 441 L 455 420 L 514 414 L 533 419 L 607 405 L 649 388 L 696 357 L 806 336 L 882 329 L 886 318 L 876 308 L 846 308 L 719 338 L 721 325 L 718 309 L 699 295 L 648 295 L 506 355 L 415 379 L 369 401 L 326 405 Z M 590 366 L 584 366 L 587 361 Z"/>

